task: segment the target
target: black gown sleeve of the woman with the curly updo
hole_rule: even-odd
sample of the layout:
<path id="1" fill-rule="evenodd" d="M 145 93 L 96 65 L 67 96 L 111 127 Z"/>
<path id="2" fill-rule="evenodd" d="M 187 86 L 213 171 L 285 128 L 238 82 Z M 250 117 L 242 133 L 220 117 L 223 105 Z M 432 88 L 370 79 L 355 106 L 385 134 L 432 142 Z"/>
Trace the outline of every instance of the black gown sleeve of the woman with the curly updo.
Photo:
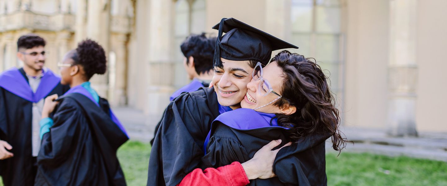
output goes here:
<path id="1" fill-rule="evenodd" d="M 38 163 L 46 167 L 57 167 L 72 153 L 81 134 L 80 123 L 86 118 L 70 101 L 59 103 L 53 116 L 53 126 L 42 136 Z"/>

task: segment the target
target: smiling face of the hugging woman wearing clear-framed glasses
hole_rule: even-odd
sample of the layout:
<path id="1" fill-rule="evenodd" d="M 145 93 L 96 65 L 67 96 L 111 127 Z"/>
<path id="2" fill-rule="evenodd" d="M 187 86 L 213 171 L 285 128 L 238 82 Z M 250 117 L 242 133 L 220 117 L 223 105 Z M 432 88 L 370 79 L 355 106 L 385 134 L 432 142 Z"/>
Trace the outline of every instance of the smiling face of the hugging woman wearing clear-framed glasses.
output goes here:
<path id="1" fill-rule="evenodd" d="M 281 95 L 284 81 L 283 70 L 281 70 L 281 68 L 278 67 L 276 62 L 271 62 L 266 67 L 262 68 L 262 71 L 263 71 L 262 78 L 264 78 L 270 83 L 270 86 L 274 92 Z M 283 110 L 280 109 L 278 106 L 274 106 L 273 103 L 270 103 L 275 99 L 277 99 L 279 96 L 272 92 L 270 92 L 266 96 L 263 96 L 269 91 L 269 88 L 267 88 L 265 84 L 262 84 L 261 91 L 259 91 L 260 82 L 261 79 L 258 80 L 252 79 L 250 83 L 247 84 L 248 91 L 244 97 L 244 100 L 240 103 L 240 106 L 242 108 L 251 108 L 251 109 L 261 107 L 256 111 L 264 113 L 273 114 L 283 112 Z M 262 107 L 264 105 L 266 106 Z"/>

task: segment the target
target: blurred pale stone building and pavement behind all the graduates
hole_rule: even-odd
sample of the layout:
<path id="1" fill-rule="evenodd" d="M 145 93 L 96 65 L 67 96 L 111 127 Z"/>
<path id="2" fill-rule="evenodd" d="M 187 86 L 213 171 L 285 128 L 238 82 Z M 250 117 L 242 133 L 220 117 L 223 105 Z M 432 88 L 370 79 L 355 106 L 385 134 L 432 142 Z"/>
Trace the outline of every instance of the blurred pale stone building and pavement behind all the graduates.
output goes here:
<path id="1" fill-rule="evenodd" d="M 181 42 L 216 35 L 211 27 L 233 17 L 325 69 L 356 142 L 347 151 L 438 160 L 447 172 L 446 9 L 447 0 L 0 0 L 0 71 L 22 65 L 16 42 L 26 33 L 47 41 L 55 72 L 77 42 L 98 41 L 109 70 L 92 84 L 145 144 L 169 95 L 189 83 Z"/>

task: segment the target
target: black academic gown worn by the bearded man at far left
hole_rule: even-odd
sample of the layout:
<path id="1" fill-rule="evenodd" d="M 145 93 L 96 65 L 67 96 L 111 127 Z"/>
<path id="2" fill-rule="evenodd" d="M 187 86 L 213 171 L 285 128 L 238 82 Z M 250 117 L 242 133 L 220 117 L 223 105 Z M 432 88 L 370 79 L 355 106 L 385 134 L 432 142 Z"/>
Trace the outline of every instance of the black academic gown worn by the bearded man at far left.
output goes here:
<path id="1" fill-rule="evenodd" d="M 28 81 L 25 71 L 19 71 Z M 59 83 L 47 96 L 61 96 L 69 88 Z M 36 173 L 31 147 L 32 107 L 32 102 L 0 87 L 0 139 L 13 146 L 10 152 L 14 154 L 14 157 L 0 160 L 0 175 L 5 186 L 34 185 Z"/>

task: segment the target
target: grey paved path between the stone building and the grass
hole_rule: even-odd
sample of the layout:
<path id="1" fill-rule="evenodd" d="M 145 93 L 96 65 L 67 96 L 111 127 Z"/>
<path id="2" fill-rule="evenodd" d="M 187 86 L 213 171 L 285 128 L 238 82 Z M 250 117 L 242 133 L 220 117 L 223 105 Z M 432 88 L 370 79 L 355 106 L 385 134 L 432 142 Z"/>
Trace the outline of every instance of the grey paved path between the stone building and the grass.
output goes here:
<path id="1" fill-rule="evenodd" d="M 160 118 L 144 116 L 143 112 L 128 107 L 117 107 L 113 110 L 132 140 L 149 142 L 152 139 L 155 125 Z M 380 129 L 344 128 L 342 131 L 348 140 L 355 142 L 354 145 L 347 146 L 347 152 L 405 155 L 447 161 L 447 133 L 419 132 L 418 137 L 391 137 Z M 327 152 L 334 152 L 331 145 L 329 142 L 326 144 Z"/>

